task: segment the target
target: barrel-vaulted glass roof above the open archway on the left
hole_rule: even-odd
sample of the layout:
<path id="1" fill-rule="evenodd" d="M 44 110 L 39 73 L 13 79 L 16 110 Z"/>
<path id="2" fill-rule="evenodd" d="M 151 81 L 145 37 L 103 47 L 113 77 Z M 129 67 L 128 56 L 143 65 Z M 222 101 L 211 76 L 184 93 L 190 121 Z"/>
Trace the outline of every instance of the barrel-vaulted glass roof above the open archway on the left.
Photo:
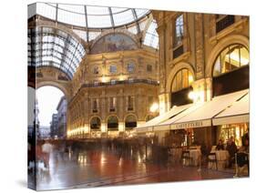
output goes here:
<path id="1" fill-rule="evenodd" d="M 83 56 L 84 47 L 67 33 L 46 26 L 28 29 L 28 66 L 54 66 L 71 79 Z"/>

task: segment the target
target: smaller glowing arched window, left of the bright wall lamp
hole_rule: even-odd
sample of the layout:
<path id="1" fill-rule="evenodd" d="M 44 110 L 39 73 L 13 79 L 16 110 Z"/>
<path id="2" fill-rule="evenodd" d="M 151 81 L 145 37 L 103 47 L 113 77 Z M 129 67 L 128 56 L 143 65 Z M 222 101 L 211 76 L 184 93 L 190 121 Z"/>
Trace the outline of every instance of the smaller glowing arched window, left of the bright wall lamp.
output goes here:
<path id="1" fill-rule="evenodd" d="M 172 80 L 171 92 L 177 92 L 183 88 L 189 87 L 194 78 L 187 68 L 179 70 Z"/>

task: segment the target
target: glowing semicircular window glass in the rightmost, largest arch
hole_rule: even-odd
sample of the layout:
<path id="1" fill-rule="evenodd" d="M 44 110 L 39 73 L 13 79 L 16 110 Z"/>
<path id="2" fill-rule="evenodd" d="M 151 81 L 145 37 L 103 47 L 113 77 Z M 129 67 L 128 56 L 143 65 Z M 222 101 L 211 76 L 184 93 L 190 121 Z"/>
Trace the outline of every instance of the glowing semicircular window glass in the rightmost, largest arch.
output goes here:
<path id="1" fill-rule="evenodd" d="M 241 66 L 247 66 L 249 62 L 249 52 L 245 46 L 230 45 L 217 56 L 213 67 L 213 76 L 219 76 Z"/>

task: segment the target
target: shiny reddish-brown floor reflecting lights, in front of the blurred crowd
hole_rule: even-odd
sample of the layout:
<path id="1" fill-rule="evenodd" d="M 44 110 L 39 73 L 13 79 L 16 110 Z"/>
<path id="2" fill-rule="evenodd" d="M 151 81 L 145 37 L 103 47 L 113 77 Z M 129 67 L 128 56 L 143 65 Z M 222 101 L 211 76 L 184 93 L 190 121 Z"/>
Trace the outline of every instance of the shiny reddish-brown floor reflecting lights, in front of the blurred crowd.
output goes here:
<path id="1" fill-rule="evenodd" d="M 223 173 L 198 168 L 182 168 L 145 162 L 141 151 L 89 150 L 50 156 L 49 171 L 37 174 L 37 190 L 87 188 L 109 185 L 232 178 Z"/>

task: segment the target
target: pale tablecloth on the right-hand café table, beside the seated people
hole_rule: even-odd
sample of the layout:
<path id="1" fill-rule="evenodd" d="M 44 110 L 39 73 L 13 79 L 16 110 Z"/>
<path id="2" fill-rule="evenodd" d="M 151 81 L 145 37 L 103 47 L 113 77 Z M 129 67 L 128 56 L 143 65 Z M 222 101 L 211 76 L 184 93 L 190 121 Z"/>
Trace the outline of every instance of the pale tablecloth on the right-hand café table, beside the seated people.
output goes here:
<path id="1" fill-rule="evenodd" d="M 229 162 L 230 154 L 227 150 L 215 150 L 210 153 L 216 153 L 218 169 L 224 169 Z M 212 156 L 210 158 L 213 158 Z M 216 168 L 214 163 L 209 163 L 208 168 Z"/>

